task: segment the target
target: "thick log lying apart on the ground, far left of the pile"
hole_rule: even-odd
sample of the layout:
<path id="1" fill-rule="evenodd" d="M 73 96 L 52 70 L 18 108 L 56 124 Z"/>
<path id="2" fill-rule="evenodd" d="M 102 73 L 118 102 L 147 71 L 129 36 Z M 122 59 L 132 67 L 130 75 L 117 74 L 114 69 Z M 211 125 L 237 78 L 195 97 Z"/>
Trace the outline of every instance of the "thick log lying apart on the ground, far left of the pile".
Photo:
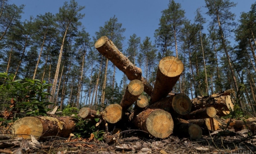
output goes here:
<path id="1" fill-rule="evenodd" d="M 68 137 L 74 128 L 72 117 L 23 117 L 13 123 L 11 132 L 23 139 L 30 139 L 30 135 L 41 139 L 46 136 Z"/>

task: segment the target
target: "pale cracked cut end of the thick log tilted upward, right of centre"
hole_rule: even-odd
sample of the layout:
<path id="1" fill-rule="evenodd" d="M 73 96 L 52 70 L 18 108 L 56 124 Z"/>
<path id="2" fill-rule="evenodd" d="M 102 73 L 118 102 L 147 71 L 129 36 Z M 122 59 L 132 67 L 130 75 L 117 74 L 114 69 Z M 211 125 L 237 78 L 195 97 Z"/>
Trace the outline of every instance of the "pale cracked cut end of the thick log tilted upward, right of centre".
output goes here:
<path id="1" fill-rule="evenodd" d="M 184 65 L 180 59 L 167 56 L 160 60 L 159 69 L 167 77 L 177 77 L 183 72 Z"/>

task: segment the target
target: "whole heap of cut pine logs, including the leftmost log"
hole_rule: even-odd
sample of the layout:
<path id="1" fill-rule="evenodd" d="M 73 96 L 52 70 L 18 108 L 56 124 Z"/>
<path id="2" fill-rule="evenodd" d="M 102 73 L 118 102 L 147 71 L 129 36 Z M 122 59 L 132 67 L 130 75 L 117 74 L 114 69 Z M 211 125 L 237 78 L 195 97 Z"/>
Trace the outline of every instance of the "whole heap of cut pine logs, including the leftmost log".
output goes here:
<path id="1" fill-rule="evenodd" d="M 148 132 L 150 136 L 162 139 L 172 133 L 199 139 L 202 130 L 217 130 L 222 125 L 218 117 L 229 114 L 233 109 L 231 90 L 192 100 L 185 94 L 169 94 L 184 70 L 183 63 L 176 57 L 169 56 L 160 60 L 152 88 L 142 76 L 142 70 L 134 66 L 107 37 L 101 37 L 95 43 L 95 48 L 130 80 L 121 102 L 106 106 L 102 112 L 87 107 L 79 111 L 79 116 L 84 119 L 99 118 L 97 125 L 104 121 L 106 131 L 108 125 L 119 123 L 119 125 L 134 125 Z M 141 95 L 143 91 L 151 96 L 150 101 L 145 95 Z M 133 104 L 135 104 L 134 110 L 130 112 L 128 109 Z M 47 136 L 49 132 L 53 136 L 53 132 L 57 132 L 55 135 L 65 137 L 62 132 L 71 132 L 75 126 L 74 120 L 70 117 L 26 118 L 28 119 L 16 121 L 12 131 L 16 134 L 29 135 L 37 132 L 35 136 L 39 137 Z M 37 125 L 37 128 L 32 129 L 33 125 Z"/>

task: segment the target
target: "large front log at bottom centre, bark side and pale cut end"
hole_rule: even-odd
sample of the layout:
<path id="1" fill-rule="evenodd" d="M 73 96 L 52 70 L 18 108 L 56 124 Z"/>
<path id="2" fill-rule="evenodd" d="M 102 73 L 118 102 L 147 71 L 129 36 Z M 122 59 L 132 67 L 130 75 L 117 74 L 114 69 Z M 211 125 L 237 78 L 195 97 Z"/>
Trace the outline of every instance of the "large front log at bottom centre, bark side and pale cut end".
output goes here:
<path id="1" fill-rule="evenodd" d="M 173 119 L 169 112 L 161 109 L 147 109 L 133 116 L 133 123 L 139 129 L 154 137 L 166 138 L 173 133 Z"/>

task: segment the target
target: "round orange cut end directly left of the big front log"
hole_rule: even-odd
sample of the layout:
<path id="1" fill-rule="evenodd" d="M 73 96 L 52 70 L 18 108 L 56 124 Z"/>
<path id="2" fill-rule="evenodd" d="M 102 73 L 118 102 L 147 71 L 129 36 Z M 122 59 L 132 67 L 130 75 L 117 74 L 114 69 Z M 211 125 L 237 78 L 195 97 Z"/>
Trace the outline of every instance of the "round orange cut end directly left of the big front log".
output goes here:
<path id="1" fill-rule="evenodd" d="M 104 110 L 104 118 L 111 124 L 117 123 L 122 117 L 122 107 L 119 104 L 110 104 Z"/>

